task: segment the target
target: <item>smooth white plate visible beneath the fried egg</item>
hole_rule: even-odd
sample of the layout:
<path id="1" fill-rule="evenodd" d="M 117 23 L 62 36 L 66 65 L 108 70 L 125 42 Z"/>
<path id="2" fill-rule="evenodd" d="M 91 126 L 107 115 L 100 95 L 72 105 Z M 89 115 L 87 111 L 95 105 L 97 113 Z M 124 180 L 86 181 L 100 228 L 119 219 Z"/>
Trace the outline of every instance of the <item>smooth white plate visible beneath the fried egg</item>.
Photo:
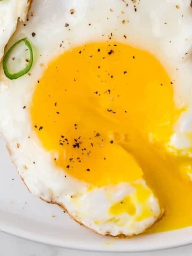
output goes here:
<path id="1" fill-rule="evenodd" d="M 99 236 L 70 220 L 56 205 L 30 194 L 0 138 L 0 230 L 71 249 L 136 252 L 192 243 L 192 227 L 132 239 Z"/>

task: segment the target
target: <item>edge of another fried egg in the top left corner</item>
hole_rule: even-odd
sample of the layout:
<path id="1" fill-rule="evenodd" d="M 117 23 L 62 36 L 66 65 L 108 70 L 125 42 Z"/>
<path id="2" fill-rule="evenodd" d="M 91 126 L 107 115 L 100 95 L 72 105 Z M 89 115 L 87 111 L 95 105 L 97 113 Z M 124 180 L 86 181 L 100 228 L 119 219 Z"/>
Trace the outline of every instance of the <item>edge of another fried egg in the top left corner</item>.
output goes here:
<path id="1" fill-rule="evenodd" d="M 17 21 L 25 21 L 31 0 L 0 1 L 0 60 L 4 55 L 4 47 L 15 32 Z"/>

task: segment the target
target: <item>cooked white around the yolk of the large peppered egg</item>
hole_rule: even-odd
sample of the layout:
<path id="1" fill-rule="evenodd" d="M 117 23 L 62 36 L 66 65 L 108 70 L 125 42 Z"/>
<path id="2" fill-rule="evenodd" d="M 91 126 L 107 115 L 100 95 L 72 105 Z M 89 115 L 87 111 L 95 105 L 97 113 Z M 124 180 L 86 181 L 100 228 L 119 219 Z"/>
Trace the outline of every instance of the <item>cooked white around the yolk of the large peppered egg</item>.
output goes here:
<path id="1" fill-rule="evenodd" d="M 176 5 L 179 5 L 179 9 Z M 70 13 L 70 9 L 74 9 L 74 14 Z M 122 20 L 126 20 L 126 23 L 122 23 Z M 66 23 L 69 24 L 68 27 L 65 26 Z M 103 235 L 132 236 L 143 232 L 161 216 L 162 209 L 151 191 L 148 198 L 151 217 L 135 221 L 135 216 L 122 214 L 118 216 L 123 220 L 121 225 L 109 222 L 112 217 L 108 213 L 109 207 L 124 196 L 133 195 L 136 192 L 134 184 L 120 183 L 88 191 L 89 184 L 56 168 L 50 153 L 42 148 L 33 130 L 30 104 L 36 82 L 49 61 L 70 47 L 91 41 L 109 40 L 112 33 L 112 40 L 145 49 L 163 63 L 174 81 L 176 106 L 186 107 L 190 112 L 191 27 L 192 10 L 189 0 L 145 0 L 135 3 L 131 0 L 106 0 L 105 4 L 102 0 L 61 0 L 57 4 L 51 0 L 34 1 L 29 21 L 26 26 L 19 25 L 8 45 L 11 46 L 23 37 L 28 37 L 31 41 L 34 64 L 30 76 L 27 74 L 10 81 L 4 76 L 2 68 L 0 70 L 0 130 L 20 176 L 32 193 L 48 202 L 61 205 L 75 220 Z M 33 32 L 35 36 L 32 36 Z M 190 115 L 188 119 L 192 120 Z M 180 127 L 188 129 L 189 123 L 186 118 L 182 120 L 181 116 L 174 134 L 179 136 Z M 186 140 L 183 137 L 173 140 L 176 136 L 174 134 L 167 148 L 177 149 L 181 144 L 184 147 Z M 147 188 L 143 179 L 135 182 Z M 111 195 L 110 198 L 108 194 Z M 139 202 L 136 208 L 136 215 L 139 215 Z"/>

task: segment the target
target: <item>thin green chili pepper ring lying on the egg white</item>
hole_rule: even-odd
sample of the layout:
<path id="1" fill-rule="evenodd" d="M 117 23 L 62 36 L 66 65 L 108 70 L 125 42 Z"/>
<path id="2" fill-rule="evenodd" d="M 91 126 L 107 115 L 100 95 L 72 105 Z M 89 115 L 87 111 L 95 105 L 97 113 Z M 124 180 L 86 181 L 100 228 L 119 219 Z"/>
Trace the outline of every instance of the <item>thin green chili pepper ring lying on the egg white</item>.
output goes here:
<path id="1" fill-rule="evenodd" d="M 25 45 L 27 46 L 28 50 L 29 50 L 29 53 L 30 53 L 30 58 L 29 58 L 29 61 L 28 61 L 28 65 L 26 68 L 20 70 L 19 72 L 17 73 L 14 73 L 14 74 L 11 74 L 9 72 L 9 69 L 7 67 L 7 62 L 9 60 L 9 56 L 10 54 L 12 53 L 13 49 L 20 43 L 24 42 Z M 29 41 L 27 40 L 27 38 L 23 38 L 23 39 L 20 39 L 18 42 L 16 42 L 15 44 L 13 44 L 10 49 L 6 52 L 5 56 L 4 56 L 4 59 L 3 59 L 3 70 L 4 70 L 4 74 L 6 77 L 8 77 L 9 79 L 13 80 L 13 79 L 17 79 L 23 75 L 25 75 L 30 69 L 31 69 L 31 66 L 33 64 L 33 50 L 32 50 L 32 46 L 31 44 L 29 43 Z"/>

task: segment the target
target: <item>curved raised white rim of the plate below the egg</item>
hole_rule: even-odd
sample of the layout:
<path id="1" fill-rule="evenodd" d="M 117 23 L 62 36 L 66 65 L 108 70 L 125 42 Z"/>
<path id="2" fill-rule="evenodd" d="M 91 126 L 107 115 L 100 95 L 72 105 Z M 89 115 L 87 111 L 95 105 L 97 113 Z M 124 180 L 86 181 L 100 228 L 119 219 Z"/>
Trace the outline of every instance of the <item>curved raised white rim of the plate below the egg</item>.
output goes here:
<path id="1" fill-rule="evenodd" d="M 160 236 L 159 237 L 159 244 L 156 244 L 154 246 L 153 243 L 146 243 L 147 245 L 145 245 L 143 248 L 139 248 L 139 246 L 129 249 L 128 246 L 126 248 L 126 246 L 122 246 L 122 244 L 119 245 L 112 245 L 112 246 L 104 246 L 105 243 L 102 244 L 102 246 L 98 246 L 98 245 L 93 245 L 93 244 L 81 244 L 80 242 L 75 242 L 72 244 L 70 243 L 69 245 L 67 245 L 68 241 L 64 241 L 62 239 L 58 240 L 58 239 L 54 239 L 53 237 L 45 237 L 43 234 L 39 234 L 39 236 L 36 236 L 36 234 L 33 234 L 30 231 L 25 231 L 22 228 L 14 228 L 12 225 L 8 225 L 8 223 L 4 222 L 4 225 L 2 225 L 2 220 L 0 221 L 0 231 L 4 232 L 6 234 L 15 236 L 15 237 L 19 237 L 22 238 L 24 240 L 28 240 L 31 242 L 35 242 L 38 244 L 45 244 L 45 245 L 51 245 L 51 246 L 57 246 L 57 247 L 61 247 L 61 248 L 65 248 L 65 249 L 71 249 L 71 250 L 79 250 L 79 251 L 88 251 L 88 252 L 152 252 L 152 251 L 161 251 L 161 250 L 165 250 L 165 249 L 171 249 L 171 248 L 177 248 L 177 247 L 181 247 L 181 246 L 185 246 L 185 245 L 189 245 L 192 244 L 192 226 L 187 227 L 187 228 L 181 228 L 181 229 L 177 229 L 177 230 L 173 230 L 173 231 L 167 231 L 167 232 L 161 232 L 161 233 L 156 233 L 156 234 L 149 234 L 147 236 Z M 188 235 L 188 230 L 191 231 L 189 233 L 191 233 L 190 235 Z M 178 239 L 178 232 L 182 233 L 182 231 L 186 231 L 186 235 L 182 236 L 182 238 Z M 91 232 L 91 231 L 90 231 Z M 172 233 L 172 235 L 171 235 Z M 164 235 L 171 235 L 173 236 L 171 241 L 169 241 L 168 243 L 164 243 L 164 245 L 162 245 L 162 242 L 164 239 L 163 236 Z M 98 235 L 99 236 L 99 235 Z M 162 236 L 162 237 L 161 237 Z M 175 241 L 173 242 L 173 238 L 176 238 Z M 128 238 L 126 238 L 128 239 Z M 130 238 L 130 239 L 134 239 L 134 238 Z M 121 239 L 121 241 L 124 241 L 124 239 Z"/>

